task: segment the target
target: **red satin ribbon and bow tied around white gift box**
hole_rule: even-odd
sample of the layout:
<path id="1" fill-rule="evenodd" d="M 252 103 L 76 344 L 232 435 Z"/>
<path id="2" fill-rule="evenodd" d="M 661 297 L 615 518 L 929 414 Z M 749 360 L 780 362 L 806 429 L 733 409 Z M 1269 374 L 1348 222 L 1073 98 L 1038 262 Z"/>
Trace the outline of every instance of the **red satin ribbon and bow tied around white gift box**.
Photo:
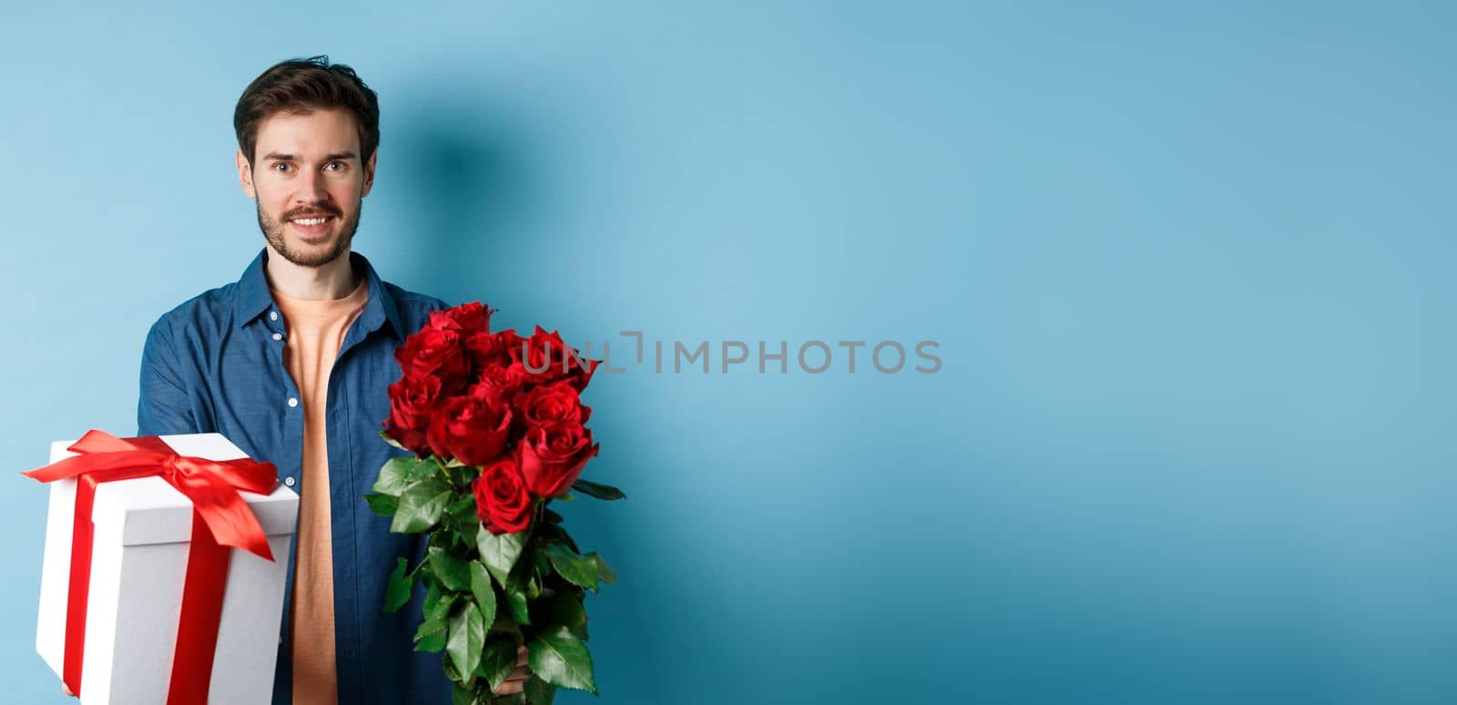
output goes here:
<path id="1" fill-rule="evenodd" d="M 192 500 L 192 543 L 188 548 L 182 616 L 172 655 L 168 704 L 207 702 L 219 618 L 223 612 L 223 590 L 227 583 L 227 562 L 232 555 L 226 546 L 240 548 L 268 561 L 274 559 L 272 551 L 268 549 L 268 535 L 237 491 L 270 494 L 278 482 L 278 470 L 272 463 L 246 457 L 208 460 L 179 456 L 157 437 L 118 438 L 96 430 L 86 431 L 86 436 L 67 450 L 80 454 L 22 472 L 41 482 L 66 478 L 77 481 L 70 594 L 66 603 L 66 658 L 61 669 L 66 688 L 80 696 L 96 485 L 157 475 Z"/>

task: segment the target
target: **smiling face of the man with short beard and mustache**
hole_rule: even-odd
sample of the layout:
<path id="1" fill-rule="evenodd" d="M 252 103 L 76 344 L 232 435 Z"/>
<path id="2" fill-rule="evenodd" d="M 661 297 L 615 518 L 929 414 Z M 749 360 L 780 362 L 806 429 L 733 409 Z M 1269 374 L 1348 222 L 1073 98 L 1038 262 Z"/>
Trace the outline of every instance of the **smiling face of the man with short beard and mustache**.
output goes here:
<path id="1" fill-rule="evenodd" d="M 237 150 L 237 179 L 258 200 L 258 227 L 284 259 L 323 267 L 342 255 L 374 184 L 374 156 L 360 160 L 354 115 L 280 112 L 258 127 L 256 163 Z M 322 218 L 322 220 L 321 220 Z"/>

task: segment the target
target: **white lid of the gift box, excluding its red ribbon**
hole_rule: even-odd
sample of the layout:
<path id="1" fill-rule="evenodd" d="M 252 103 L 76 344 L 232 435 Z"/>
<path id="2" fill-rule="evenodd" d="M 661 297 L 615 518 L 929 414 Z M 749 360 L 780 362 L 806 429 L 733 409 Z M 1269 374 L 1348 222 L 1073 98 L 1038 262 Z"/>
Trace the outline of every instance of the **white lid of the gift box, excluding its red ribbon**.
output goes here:
<path id="1" fill-rule="evenodd" d="M 159 436 L 178 454 L 208 460 L 248 457 L 237 446 L 219 433 Z M 51 444 L 51 462 L 76 456 L 66 450 L 74 440 Z M 239 491 L 254 510 L 264 533 L 270 536 L 294 532 L 299 520 L 299 495 L 283 484 L 275 484 L 267 495 Z M 124 546 L 147 543 L 179 543 L 192 539 L 192 501 L 160 476 L 119 479 L 96 487 L 92 524 L 98 536 L 121 536 Z M 102 532 L 102 527 L 109 530 Z M 117 530 L 119 529 L 119 530 Z"/>

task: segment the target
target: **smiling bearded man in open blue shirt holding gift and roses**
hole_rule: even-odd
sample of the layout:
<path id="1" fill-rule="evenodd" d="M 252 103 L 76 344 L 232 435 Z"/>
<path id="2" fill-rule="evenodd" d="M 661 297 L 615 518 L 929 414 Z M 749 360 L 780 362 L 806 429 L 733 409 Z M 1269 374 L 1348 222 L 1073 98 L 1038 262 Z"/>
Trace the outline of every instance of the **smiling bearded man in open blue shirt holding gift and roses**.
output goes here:
<path id="1" fill-rule="evenodd" d="M 377 436 L 393 351 L 446 307 L 351 252 L 374 182 L 376 93 L 326 57 L 283 61 L 243 90 L 233 127 L 265 246 L 236 283 L 152 326 L 137 433 L 221 433 L 299 492 L 274 705 L 449 704 L 441 655 L 412 648 L 423 591 L 380 610 L 395 558 L 414 565 L 424 539 L 389 533 L 361 498 L 396 454 Z M 498 693 L 522 690 L 525 663 L 522 650 Z"/>

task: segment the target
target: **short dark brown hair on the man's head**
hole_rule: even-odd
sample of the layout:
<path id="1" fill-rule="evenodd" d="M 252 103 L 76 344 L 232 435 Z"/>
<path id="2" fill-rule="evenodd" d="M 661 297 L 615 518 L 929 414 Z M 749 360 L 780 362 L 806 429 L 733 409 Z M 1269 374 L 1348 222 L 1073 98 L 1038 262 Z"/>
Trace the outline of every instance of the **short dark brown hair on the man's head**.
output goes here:
<path id="1" fill-rule="evenodd" d="M 369 162 L 379 147 L 379 96 L 344 64 L 329 64 L 329 57 L 280 61 L 254 79 L 233 109 L 237 147 L 254 163 L 258 125 L 278 112 L 305 114 L 315 109 L 344 108 L 354 114 L 360 130 L 360 160 Z"/>

